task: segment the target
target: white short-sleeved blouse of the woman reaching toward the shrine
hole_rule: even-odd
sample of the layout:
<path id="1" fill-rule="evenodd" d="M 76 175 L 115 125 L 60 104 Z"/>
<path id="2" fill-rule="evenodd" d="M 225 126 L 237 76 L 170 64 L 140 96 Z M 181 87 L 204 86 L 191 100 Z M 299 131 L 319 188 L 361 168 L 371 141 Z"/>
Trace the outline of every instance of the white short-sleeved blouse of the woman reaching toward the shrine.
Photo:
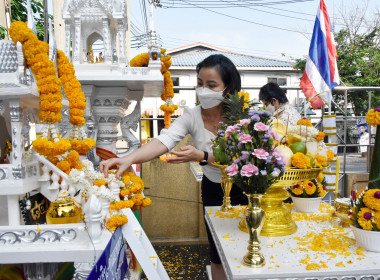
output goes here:
<path id="1" fill-rule="evenodd" d="M 184 114 L 173 121 L 169 129 L 161 130 L 156 139 L 162 142 L 168 150 L 172 150 L 187 134 L 193 138 L 195 147 L 198 150 L 211 152 L 211 138 L 214 134 L 204 126 L 201 106 L 195 108 L 185 108 Z M 203 174 L 212 182 L 220 183 L 222 173 L 219 168 L 211 165 L 202 166 Z"/>

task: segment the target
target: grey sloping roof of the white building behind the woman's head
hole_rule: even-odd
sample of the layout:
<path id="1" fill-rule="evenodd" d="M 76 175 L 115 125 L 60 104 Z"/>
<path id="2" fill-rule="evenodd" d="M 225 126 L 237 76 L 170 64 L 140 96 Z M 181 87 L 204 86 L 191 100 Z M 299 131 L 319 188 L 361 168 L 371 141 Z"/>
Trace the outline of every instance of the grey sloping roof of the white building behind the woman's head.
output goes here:
<path id="1" fill-rule="evenodd" d="M 176 54 L 170 53 L 172 56 L 172 66 L 196 66 L 206 57 L 212 54 L 223 54 L 228 57 L 236 67 L 292 67 L 287 61 L 238 54 L 227 51 L 218 50 L 189 50 Z"/>

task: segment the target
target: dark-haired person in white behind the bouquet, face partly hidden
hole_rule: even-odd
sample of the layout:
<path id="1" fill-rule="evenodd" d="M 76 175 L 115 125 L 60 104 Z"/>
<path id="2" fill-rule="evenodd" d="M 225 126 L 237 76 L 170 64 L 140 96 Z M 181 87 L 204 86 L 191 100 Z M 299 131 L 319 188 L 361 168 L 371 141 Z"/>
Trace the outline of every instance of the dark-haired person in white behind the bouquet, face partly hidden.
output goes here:
<path id="1" fill-rule="evenodd" d="M 267 83 L 261 87 L 259 100 L 267 107 L 273 117 L 281 120 L 285 125 L 296 125 L 301 119 L 300 113 L 289 104 L 285 92 L 276 83 Z"/>

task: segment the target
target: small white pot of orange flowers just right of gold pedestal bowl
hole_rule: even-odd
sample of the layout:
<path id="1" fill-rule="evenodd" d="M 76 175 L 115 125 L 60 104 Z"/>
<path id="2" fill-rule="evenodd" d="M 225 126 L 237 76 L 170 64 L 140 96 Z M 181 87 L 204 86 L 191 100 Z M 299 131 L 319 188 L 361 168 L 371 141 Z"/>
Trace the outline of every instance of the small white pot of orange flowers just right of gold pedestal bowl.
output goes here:
<path id="1" fill-rule="evenodd" d="M 326 187 L 313 179 L 300 181 L 291 186 L 288 191 L 298 211 L 314 213 L 326 194 Z"/>

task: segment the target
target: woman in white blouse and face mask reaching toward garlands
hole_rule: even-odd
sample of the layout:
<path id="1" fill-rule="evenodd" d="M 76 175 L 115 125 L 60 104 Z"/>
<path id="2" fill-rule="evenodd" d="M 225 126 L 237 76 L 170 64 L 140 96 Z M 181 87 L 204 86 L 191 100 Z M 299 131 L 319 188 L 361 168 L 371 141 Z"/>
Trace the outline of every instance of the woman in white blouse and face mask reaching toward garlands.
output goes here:
<path id="1" fill-rule="evenodd" d="M 223 191 L 220 186 L 221 173 L 211 165 L 215 158 L 210 149 L 211 138 L 216 135 L 223 116 L 223 99 L 229 93 L 241 89 L 240 74 L 227 57 L 211 55 L 197 65 L 196 94 L 200 105 L 185 109 L 183 116 L 175 120 L 169 129 L 163 129 L 153 141 L 148 142 L 135 152 L 122 158 L 109 159 L 100 163 L 100 171 L 107 176 L 110 168 L 117 168 L 119 177 L 130 165 L 152 160 L 170 151 L 177 157 L 168 158 L 168 163 L 199 161 L 203 167 L 202 201 L 204 206 L 220 206 Z M 190 134 L 195 147 L 182 147 L 181 151 L 172 149 Z M 247 204 L 242 191 L 233 187 L 230 193 L 232 204 Z M 215 243 L 206 225 L 210 243 L 211 272 L 213 279 L 226 279 Z"/>

